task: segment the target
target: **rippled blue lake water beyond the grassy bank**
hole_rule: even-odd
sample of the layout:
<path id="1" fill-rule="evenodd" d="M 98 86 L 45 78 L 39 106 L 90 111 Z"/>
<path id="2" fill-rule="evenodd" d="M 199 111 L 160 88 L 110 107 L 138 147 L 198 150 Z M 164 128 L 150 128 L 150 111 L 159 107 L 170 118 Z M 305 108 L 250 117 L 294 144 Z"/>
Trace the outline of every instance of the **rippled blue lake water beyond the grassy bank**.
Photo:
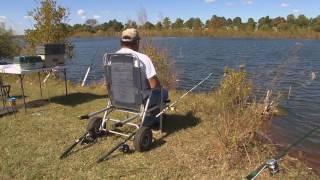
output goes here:
<path id="1" fill-rule="evenodd" d="M 75 49 L 68 62 L 68 79 L 82 81 L 93 64 L 88 83 L 103 80 L 102 56 L 116 51 L 119 40 L 74 38 L 72 43 Z M 243 64 L 258 94 L 264 95 L 266 89 L 281 93 L 280 105 L 288 114 L 272 121 L 269 135 L 276 143 L 291 144 L 320 126 L 320 41 L 168 37 L 153 38 L 153 43 L 168 51 L 179 89 L 189 89 L 212 72 L 213 78 L 199 89 L 210 90 L 218 86 L 225 66 Z M 320 172 L 320 133 L 307 138 L 295 151 L 302 151 Z"/>

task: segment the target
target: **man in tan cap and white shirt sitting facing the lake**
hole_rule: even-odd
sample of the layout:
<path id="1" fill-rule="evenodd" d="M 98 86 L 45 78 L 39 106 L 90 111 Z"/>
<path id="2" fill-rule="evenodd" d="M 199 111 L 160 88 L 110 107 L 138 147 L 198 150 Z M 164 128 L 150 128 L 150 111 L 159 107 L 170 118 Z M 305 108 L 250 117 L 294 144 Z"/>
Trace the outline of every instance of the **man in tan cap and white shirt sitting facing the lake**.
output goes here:
<path id="1" fill-rule="evenodd" d="M 141 66 L 141 69 L 143 71 L 142 75 L 144 76 L 143 79 L 145 79 L 145 81 L 142 82 L 143 87 L 146 90 L 153 90 L 150 99 L 150 105 L 152 106 L 160 103 L 161 84 L 157 77 L 157 73 L 151 59 L 147 55 L 138 52 L 139 43 L 140 37 L 138 31 L 134 28 L 126 29 L 122 32 L 121 35 L 121 49 L 116 53 L 133 54 L 141 60 L 141 62 L 143 63 L 143 65 Z M 162 89 L 162 101 L 165 102 L 167 99 L 168 91 Z"/>

